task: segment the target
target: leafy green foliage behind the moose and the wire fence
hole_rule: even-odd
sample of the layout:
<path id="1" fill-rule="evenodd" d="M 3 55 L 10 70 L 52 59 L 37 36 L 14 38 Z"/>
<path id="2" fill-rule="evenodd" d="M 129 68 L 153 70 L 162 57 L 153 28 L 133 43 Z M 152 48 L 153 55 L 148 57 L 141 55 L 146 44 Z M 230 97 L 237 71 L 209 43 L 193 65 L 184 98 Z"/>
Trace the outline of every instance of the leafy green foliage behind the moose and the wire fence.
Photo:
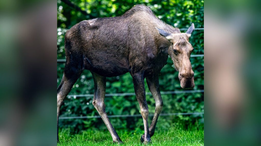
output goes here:
<path id="1" fill-rule="evenodd" d="M 71 0 L 72 1 L 72 0 Z M 98 17 L 114 17 L 124 14 L 135 4 L 144 3 L 155 12 L 164 22 L 179 28 L 188 28 L 191 23 L 195 28 L 204 28 L 204 1 L 182 1 L 182 0 L 75 0 L 72 1 L 81 10 L 87 12 L 83 15 L 76 9 L 57 1 L 57 59 L 64 59 L 64 34 L 76 23 Z M 182 31 L 185 32 L 185 31 Z M 195 30 L 190 38 L 194 47 L 192 54 L 204 54 L 204 30 Z M 204 57 L 191 57 L 192 68 L 195 74 L 195 90 L 204 89 Z M 159 84 L 161 91 L 182 90 L 178 79 L 178 72 L 174 70 L 173 62 L 168 59 L 167 65 L 161 70 Z M 57 87 L 61 82 L 64 63 L 57 63 Z M 149 92 L 145 83 L 146 92 Z M 94 83 L 90 71 L 85 70 L 72 88 L 69 95 L 93 94 Z M 122 76 L 107 78 L 106 93 L 128 93 L 134 92 L 132 77 L 129 73 Z M 155 101 L 151 95 L 147 95 L 149 112 L 154 113 Z M 204 111 L 204 94 L 173 94 L 162 95 L 164 107 L 162 113 L 176 112 L 202 112 Z M 106 112 L 108 115 L 139 114 L 139 105 L 135 96 L 106 97 Z M 65 99 L 61 108 L 60 116 L 92 116 L 98 112 L 92 105 L 91 97 L 69 96 Z M 163 127 L 169 128 L 170 123 L 176 123 L 187 128 L 189 125 L 202 125 L 204 115 L 170 116 L 161 118 Z M 135 129 L 143 128 L 142 118 L 111 118 L 115 128 Z M 151 122 L 152 117 L 149 121 Z M 101 119 L 71 119 L 60 120 L 60 127 L 69 127 L 71 131 L 77 132 L 90 127 L 106 129 Z"/>

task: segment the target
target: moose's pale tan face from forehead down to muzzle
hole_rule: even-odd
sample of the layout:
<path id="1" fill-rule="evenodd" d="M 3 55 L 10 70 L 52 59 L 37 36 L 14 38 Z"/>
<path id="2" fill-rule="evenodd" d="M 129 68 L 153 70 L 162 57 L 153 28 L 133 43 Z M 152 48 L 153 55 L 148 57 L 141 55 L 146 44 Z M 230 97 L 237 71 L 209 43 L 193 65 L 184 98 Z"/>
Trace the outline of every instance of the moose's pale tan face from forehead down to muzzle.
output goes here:
<path id="1" fill-rule="evenodd" d="M 190 35 L 186 33 L 171 34 L 166 38 L 171 42 L 168 53 L 179 71 L 180 86 L 183 89 L 194 88 L 194 72 L 190 63 L 190 55 L 193 51 L 192 45 L 188 42 Z"/>

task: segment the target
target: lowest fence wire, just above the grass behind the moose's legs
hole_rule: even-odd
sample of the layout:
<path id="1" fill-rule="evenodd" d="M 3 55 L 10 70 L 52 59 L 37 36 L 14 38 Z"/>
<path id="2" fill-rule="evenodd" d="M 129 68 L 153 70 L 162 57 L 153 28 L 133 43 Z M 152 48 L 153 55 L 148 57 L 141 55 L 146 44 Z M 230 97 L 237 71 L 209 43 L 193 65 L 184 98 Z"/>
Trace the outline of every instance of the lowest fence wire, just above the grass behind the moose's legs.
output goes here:
<path id="1" fill-rule="evenodd" d="M 175 115 L 204 115 L 204 112 L 186 112 L 186 113 L 165 113 L 159 116 L 175 116 Z M 153 117 L 154 114 L 149 114 Z M 124 118 L 124 117 L 141 117 L 141 114 L 136 115 L 109 115 L 109 118 Z M 59 117 L 60 119 L 90 119 L 90 118 L 101 118 L 100 116 L 72 116 L 72 117 Z"/>

